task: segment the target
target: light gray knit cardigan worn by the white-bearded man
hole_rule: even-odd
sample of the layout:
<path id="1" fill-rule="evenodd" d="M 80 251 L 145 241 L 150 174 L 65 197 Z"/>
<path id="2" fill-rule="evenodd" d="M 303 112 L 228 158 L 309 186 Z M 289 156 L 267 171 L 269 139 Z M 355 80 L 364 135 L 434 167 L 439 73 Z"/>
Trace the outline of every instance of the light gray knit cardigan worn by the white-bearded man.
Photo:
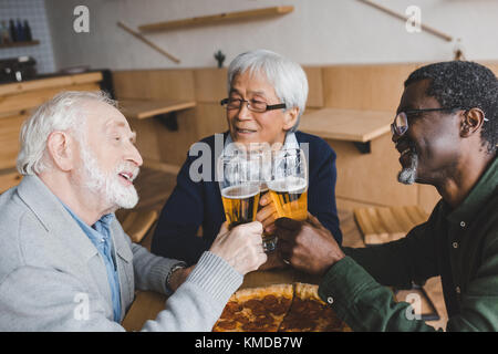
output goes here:
<path id="1" fill-rule="evenodd" d="M 111 227 L 123 320 L 135 288 L 166 293 L 177 260 L 132 243 Z M 242 275 L 205 252 L 186 282 L 144 331 L 210 331 Z M 124 331 L 113 320 L 111 289 L 96 248 L 35 176 L 0 196 L 0 331 Z"/>

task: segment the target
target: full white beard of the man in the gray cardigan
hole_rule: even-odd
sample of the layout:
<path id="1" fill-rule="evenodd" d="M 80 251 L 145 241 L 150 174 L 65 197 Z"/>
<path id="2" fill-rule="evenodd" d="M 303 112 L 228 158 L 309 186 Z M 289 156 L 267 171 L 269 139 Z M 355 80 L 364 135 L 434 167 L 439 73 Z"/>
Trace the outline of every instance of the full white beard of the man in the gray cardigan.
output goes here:
<path id="1" fill-rule="evenodd" d="M 87 148 L 81 148 L 83 159 L 83 183 L 84 187 L 97 196 L 105 198 L 105 204 L 111 209 L 132 209 L 138 202 L 138 194 L 133 185 L 124 186 L 118 178 L 120 171 L 133 171 L 133 178 L 138 175 L 138 168 L 129 168 L 129 164 L 123 163 L 114 171 L 106 175 L 100 167 Z M 127 168 L 127 169 L 126 169 Z"/>

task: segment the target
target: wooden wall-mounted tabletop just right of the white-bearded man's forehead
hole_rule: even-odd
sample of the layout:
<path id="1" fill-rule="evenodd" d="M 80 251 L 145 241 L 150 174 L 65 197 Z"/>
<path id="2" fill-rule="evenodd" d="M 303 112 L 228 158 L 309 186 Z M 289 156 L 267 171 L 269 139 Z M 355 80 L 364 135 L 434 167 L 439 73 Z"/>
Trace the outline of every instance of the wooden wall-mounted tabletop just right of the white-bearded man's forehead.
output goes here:
<path id="1" fill-rule="evenodd" d="M 120 108 L 127 118 L 145 119 L 195 107 L 195 101 L 120 100 Z"/>

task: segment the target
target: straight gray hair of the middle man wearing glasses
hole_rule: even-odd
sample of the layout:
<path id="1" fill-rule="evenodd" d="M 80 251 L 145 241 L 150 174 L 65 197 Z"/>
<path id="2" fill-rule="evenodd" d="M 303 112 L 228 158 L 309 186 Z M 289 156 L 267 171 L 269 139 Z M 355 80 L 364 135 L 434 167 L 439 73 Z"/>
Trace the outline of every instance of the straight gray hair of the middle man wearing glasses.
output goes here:
<path id="1" fill-rule="evenodd" d="M 230 93 L 234 77 L 248 70 L 251 75 L 263 73 L 273 85 L 277 96 L 288 108 L 299 107 L 298 119 L 290 129 L 295 132 L 308 98 L 308 79 L 301 65 L 263 49 L 239 54 L 228 66 L 228 93 Z"/>

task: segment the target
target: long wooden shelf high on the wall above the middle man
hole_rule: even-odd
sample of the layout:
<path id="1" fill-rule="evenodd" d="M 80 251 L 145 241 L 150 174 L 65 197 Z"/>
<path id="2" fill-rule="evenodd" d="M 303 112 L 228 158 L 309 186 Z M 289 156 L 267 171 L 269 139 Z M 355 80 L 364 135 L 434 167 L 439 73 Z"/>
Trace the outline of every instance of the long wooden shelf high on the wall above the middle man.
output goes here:
<path id="1" fill-rule="evenodd" d="M 274 17 L 290 13 L 294 10 L 292 6 L 281 6 L 246 11 L 225 12 L 219 14 L 203 15 L 198 18 L 148 23 L 138 27 L 142 32 L 168 31 L 179 28 L 199 27 L 207 24 L 225 23 L 230 21 L 260 19 L 263 17 Z"/>

